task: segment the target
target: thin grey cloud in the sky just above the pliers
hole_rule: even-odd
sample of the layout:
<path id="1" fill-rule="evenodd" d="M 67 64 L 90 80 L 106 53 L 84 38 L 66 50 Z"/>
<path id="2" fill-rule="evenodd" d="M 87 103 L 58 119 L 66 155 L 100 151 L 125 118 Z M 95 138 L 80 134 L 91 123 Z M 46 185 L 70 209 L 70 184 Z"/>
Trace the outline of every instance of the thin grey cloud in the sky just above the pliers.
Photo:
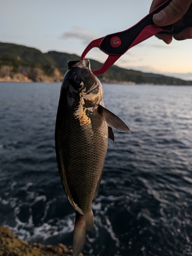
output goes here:
<path id="1" fill-rule="evenodd" d="M 64 32 L 59 39 L 76 38 L 83 41 L 83 44 L 89 44 L 90 41 L 97 38 L 97 35 L 93 31 L 85 30 L 81 27 L 73 27 L 71 31 Z"/>

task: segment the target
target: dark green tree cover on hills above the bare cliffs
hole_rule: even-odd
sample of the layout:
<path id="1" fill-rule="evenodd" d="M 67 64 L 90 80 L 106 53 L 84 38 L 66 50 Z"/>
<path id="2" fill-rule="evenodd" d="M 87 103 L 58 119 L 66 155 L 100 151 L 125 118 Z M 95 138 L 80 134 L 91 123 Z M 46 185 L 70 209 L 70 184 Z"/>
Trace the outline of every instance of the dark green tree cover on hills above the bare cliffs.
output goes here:
<path id="1" fill-rule="evenodd" d="M 19 67 L 32 67 L 39 68 L 45 75 L 51 76 L 53 68 L 57 68 L 62 76 L 67 70 L 67 61 L 73 59 L 80 59 L 80 56 L 56 51 L 42 53 L 34 48 L 0 42 L 0 68 L 10 66 L 14 73 L 19 72 Z M 92 70 L 97 70 L 102 66 L 102 63 L 98 61 L 90 60 L 90 62 Z M 122 69 L 114 65 L 98 78 L 109 82 L 192 85 L 192 81 Z"/>

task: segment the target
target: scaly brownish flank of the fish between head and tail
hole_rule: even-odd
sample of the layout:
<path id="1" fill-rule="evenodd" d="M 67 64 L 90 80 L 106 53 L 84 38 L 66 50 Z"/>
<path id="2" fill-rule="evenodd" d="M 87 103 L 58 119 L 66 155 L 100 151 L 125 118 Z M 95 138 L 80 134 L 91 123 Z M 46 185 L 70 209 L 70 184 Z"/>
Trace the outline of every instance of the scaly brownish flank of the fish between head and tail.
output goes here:
<path id="1" fill-rule="evenodd" d="M 61 128 L 61 134 L 67 134 L 64 139 L 60 138 L 63 145 L 62 161 L 66 166 L 66 180 L 71 195 L 86 214 L 90 211 L 94 188 L 103 170 L 108 142 L 107 124 L 97 110 L 92 115 L 93 120 L 89 127 L 80 126 L 76 118 L 72 119 L 71 116 L 74 115 L 67 111 Z M 99 123 L 102 125 L 101 130 L 98 130 Z M 93 135 L 88 137 L 92 131 Z"/>

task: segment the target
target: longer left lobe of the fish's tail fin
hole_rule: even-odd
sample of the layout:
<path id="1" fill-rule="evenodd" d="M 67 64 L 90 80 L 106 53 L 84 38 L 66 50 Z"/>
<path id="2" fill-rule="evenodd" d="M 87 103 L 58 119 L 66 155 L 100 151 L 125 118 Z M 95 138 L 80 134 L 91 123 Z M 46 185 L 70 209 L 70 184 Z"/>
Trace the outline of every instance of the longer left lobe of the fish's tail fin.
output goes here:
<path id="1" fill-rule="evenodd" d="M 73 256 L 78 256 L 85 244 L 85 217 L 76 211 L 76 221 L 74 227 Z"/>

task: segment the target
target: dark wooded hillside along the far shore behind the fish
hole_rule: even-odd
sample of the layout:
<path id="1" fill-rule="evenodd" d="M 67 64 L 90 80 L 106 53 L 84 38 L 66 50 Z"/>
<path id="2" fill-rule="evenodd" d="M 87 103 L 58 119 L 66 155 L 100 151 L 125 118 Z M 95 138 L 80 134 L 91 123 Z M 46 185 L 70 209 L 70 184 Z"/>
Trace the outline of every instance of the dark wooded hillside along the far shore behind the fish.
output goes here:
<path id="1" fill-rule="evenodd" d="M 42 53 L 34 48 L 0 42 L 0 81 L 59 82 L 67 70 L 67 61 L 71 59 L 80 59 L 80 56 L 56 51 Z M 90 62 L 92 70 L 102 66 L 96 60 L 90 59 Z M 115 65 L 98 78 L 106 82 L 192 85 L 192 81 L 122 69 Z"/>

